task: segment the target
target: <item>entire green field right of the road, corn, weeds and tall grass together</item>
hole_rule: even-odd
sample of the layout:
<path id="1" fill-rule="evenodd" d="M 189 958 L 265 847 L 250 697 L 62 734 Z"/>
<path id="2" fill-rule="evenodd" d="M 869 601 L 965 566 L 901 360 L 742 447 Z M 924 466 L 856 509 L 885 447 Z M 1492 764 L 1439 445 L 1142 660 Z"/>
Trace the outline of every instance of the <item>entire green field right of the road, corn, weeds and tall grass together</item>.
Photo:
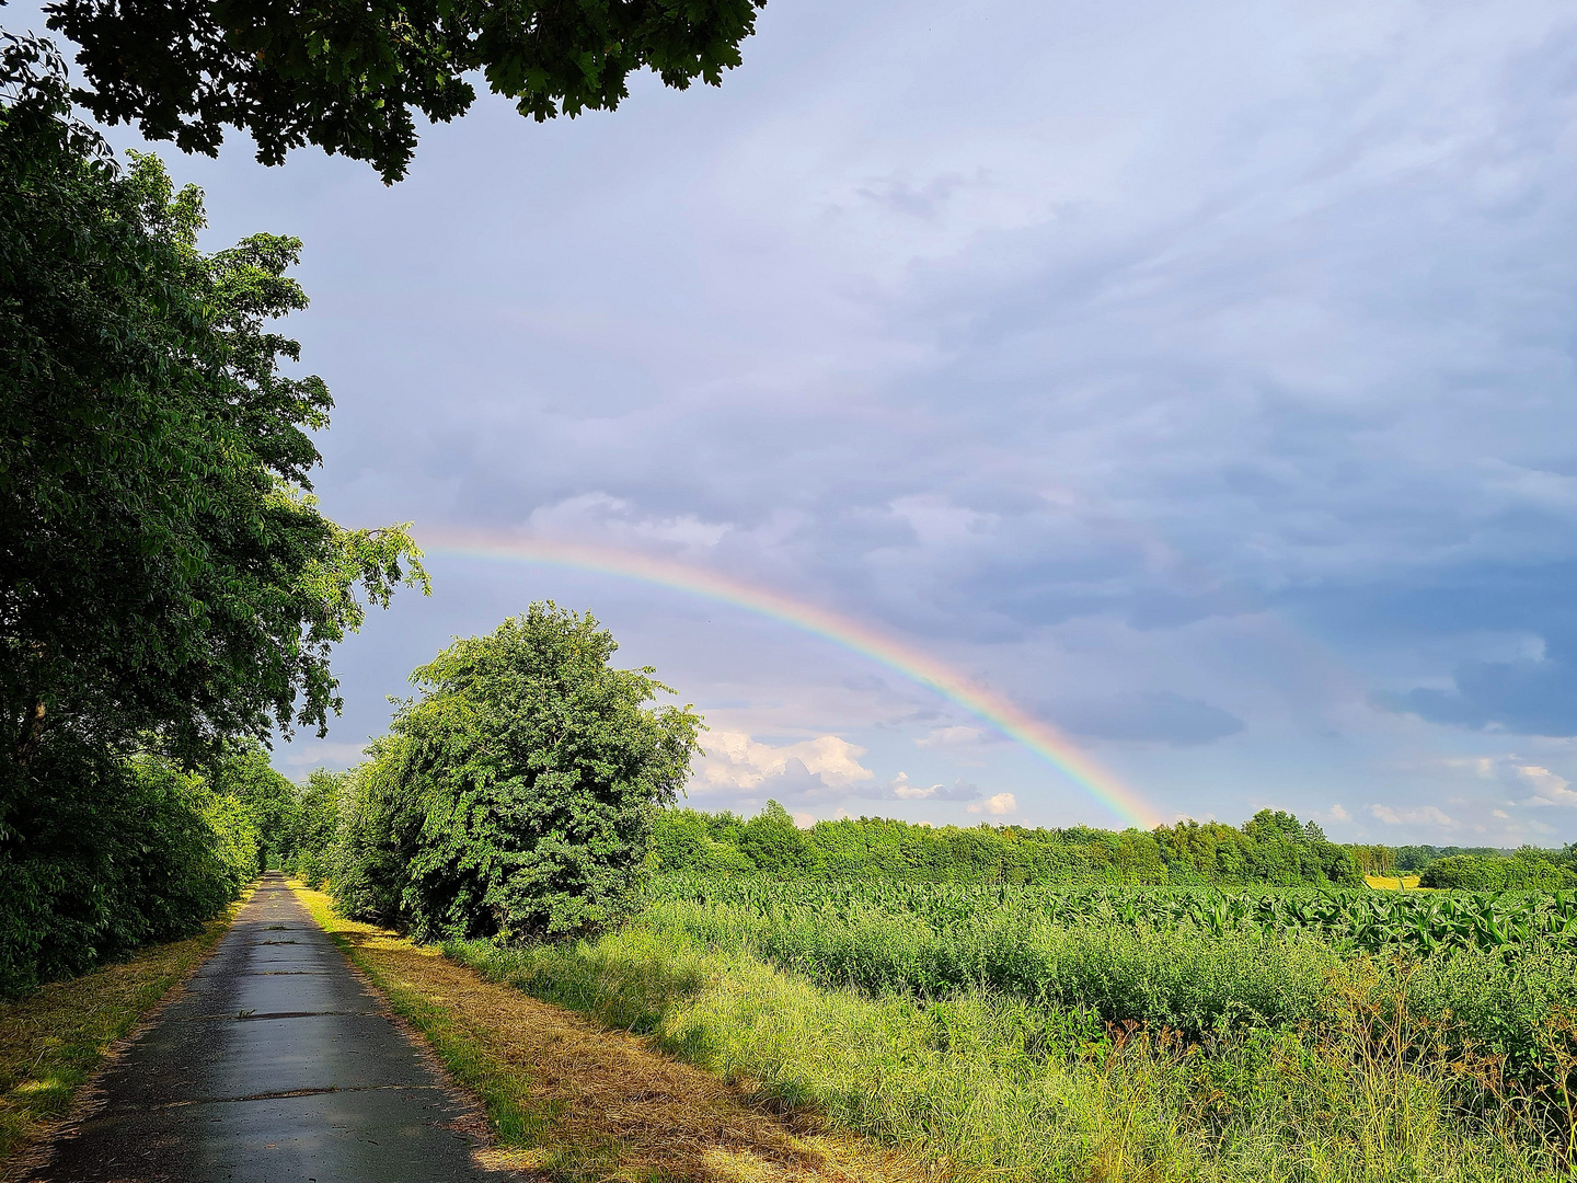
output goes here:
<path id="1" fill-rule="evenodd" d="M 448 953 L 940 1178 L 1571 1178 L 1577 901 L 662 875 Z"/>

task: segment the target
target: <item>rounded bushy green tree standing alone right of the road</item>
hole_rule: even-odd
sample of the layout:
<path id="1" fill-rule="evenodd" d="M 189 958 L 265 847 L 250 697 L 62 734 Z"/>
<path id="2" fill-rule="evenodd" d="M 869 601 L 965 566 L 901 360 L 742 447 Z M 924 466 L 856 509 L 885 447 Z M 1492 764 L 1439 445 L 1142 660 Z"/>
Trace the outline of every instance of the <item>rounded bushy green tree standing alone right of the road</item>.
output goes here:
<path id="1" fill-rule="evenodd" d="M 621 915 L 645 874 L 700 716 L 647 707 L 651 669 L 613 669 L 590 614 L 538 603 L 456 640 L 358 773 L 336 896 L 421 937 L 550 937 Z"/>

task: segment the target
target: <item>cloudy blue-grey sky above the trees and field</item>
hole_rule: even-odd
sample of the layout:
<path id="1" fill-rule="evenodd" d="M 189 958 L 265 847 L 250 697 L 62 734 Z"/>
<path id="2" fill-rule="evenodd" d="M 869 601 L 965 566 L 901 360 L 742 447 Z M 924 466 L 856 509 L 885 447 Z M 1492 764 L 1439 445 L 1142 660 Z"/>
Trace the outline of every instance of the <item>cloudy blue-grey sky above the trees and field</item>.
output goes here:
<path id="1" fill-rule="evenodd" d="M 692 806 L 1134 820 L 902 666 L 483 536 L 836 617 L 1151 817 L 1577 839 L 1569 3 L 771 0 L 721 88 L 483 99 L 393 188 L 164 155 L 207 246 L 304 240 L 317 492 L 429 550 L 292 776 L 550 598 L 706 716 Z"/>

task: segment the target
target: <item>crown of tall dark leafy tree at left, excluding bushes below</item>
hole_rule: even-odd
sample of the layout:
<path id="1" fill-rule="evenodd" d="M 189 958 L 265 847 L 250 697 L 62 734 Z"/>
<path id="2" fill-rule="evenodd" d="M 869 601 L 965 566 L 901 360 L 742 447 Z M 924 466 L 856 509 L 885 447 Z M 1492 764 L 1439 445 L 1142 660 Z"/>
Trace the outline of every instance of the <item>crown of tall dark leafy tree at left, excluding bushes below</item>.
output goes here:
<path id="1" fill-rule="evenodd" d="M 268 327 L 306 308 L 301 243 L 203 254 L 202 194 L 153 156 L 121 170 L 69 118 L 47 43 L 0 46 L 5 765 L 57 733 L 121 752 L 153 733 L 188 763 L 323 733 L 358 587 L 386 606 L 426 573 L 407 527 L 345 530 L 311 497 L 328 388 L 282 372 L 300 347 Z"/>

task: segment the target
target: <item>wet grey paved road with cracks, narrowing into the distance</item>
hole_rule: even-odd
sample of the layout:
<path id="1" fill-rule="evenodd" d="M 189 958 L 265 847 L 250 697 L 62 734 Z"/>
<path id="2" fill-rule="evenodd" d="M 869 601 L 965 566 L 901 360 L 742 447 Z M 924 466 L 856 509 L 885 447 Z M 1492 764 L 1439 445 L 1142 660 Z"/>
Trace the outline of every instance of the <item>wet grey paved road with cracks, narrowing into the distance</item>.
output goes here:
<path id="1" fill-rule="evenodd" d="M 468 1110 L 278 874 L 101 1084 L 36 1180 L 508 1178 L 473 1164 Z"/>

